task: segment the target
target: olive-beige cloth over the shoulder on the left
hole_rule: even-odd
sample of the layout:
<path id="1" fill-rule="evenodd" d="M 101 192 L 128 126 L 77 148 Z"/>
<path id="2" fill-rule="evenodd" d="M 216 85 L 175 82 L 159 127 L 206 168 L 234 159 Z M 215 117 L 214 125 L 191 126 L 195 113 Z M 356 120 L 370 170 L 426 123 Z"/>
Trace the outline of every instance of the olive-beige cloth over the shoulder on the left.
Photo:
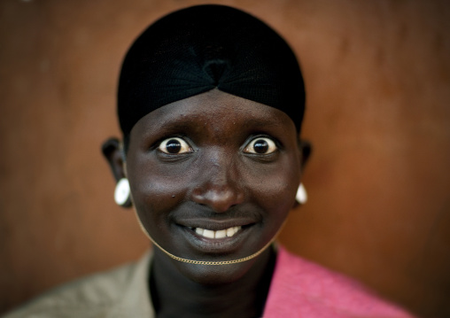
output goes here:
<path id="1" fill-rule="evenodd" d="M 120 268 L 67 283 L 4 318 L 154 318 L 148 288 L 151 252 Z"/>

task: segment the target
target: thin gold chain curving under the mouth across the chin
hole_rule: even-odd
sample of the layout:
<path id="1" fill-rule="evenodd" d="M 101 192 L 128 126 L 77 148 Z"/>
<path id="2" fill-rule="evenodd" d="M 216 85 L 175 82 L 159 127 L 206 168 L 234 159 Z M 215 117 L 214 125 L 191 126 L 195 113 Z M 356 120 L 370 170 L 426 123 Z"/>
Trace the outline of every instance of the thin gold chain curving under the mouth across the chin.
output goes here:
<path id="1" fill-rule="evenodd" d="M 244 257 L 242 259 L 237 259 L 237 260 L 223 260 L 223 261 L 208 261 L 208 260 L 187 260 L 187 259 L 183 259 L 181 257 L 175 256 L 174 254 L 171 254 L 170 252 L 167 252 L 161 245 L 159 245 L 158 243 L 156 243 L 156 241 L 151 237 L 150 233 L 147 231 L 147 229 L 144 228 L 144 225 L 141 221 L 141 219 L 139 219 L 139 215 L 137 214 L 136 211 L 136 207 L 133 206 L 133 210 L 135 211 L 135 215 L 136 215 L 136 219 L 137 222 L 139 223 L 139 227 L 141 228 L 141 230 L 144 232 L 145 237 L 147 237 L 148 239 L 151 240 L 151 243 L 154 244 L 155 246 L 157 246 L 159 248 L 159 250 L 161 250 L 162 252 L 164 252 L 165 254 L 167 254 L 168 257 L 170 257 L 173 260 L 178 260 L 181 261 L 183 263 L 188 263 L 188 264 L 195 264 L 195 265 L 209 265 L 209 266 L 219 266 L 219 265 L 230 265 L 230 264 L 237 264 L 237 263 L 242 263 L 244 261 L 247 260 L 252 260 L 255 257 L 258 257 L 260 255 L 260 253 L 264 252 L 267 250 L 268 246 L 270 246 L 272 243 L 274 243 L 276 237 L 278 237 L 278 234 L 280 234 L 280 232 L 282 231 L 284 224 L 286 224 L 287 218 L 283 221 L 282 225 L 280 226 L 280 229 L 278 229 L 275 233 L 275 236 L 272 237 L 270 239 L 270 241 L 268 241 L 268 244 L 265 244 L 259 251 L 252 253 L 252 255 L 249 255 L 247 257 Z"/>

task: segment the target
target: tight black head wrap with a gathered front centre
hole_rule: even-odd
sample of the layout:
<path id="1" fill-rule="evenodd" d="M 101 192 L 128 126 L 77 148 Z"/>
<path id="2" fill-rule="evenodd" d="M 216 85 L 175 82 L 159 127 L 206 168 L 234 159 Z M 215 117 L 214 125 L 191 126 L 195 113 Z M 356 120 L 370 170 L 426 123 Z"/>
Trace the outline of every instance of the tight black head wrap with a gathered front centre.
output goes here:
<path id="1" fill-rule="evenodd" d="M 146 114 L 211 89 L 287 113 L 299 131 L 305 89 L 289 45 L 260 19 L 223 5 L 168 14 L 128 50 L 120 74 L 120 128 Z"/>

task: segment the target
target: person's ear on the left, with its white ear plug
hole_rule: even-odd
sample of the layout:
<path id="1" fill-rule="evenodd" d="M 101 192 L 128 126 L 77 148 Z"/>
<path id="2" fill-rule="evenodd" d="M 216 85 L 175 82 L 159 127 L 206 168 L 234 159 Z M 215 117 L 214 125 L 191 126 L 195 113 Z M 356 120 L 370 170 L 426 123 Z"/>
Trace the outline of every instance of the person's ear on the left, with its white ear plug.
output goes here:
<path id="1" fill-rule="evenodd" d="M 125 158 L 123 151 L 121 150 L 120 147 L 119 139 L 115 137 L 108 138 L 104 143 L 102 143 L 102 152 L 103 155 L 105 156 L 106 161 L 109 164 L 109 167 L 111 168 L 112 175 L 116 183 L 119 182 L 120 179 L 127 178 L 127 171 L 125 168 Z M 118 190 L 119 189 L 116 188 L 116 192 Z M 129 187 L 128 187 L 128 195 L 129 195 Z M 130 207 L 131 199 L 128 198 L 125 203 L 123 204 L 120 203 L 120 206 Z"/>

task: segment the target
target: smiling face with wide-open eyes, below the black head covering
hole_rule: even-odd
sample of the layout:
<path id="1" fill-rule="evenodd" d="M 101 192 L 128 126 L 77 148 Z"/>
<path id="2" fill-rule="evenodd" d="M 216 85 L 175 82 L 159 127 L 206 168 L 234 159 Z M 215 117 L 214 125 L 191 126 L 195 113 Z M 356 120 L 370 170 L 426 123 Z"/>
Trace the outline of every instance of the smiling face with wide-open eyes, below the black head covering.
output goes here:
<path id="1" fill-rule="evenodd" d="M 284 112 L 216 89 L 137 121 L 127 153 L 144 229 L 188 260 L 236 260 L 268 244 L 294 205 L 300 167 Z M 258 258 L 224 266 L 171 261 L 201 282 L 236 279 Z"/>

